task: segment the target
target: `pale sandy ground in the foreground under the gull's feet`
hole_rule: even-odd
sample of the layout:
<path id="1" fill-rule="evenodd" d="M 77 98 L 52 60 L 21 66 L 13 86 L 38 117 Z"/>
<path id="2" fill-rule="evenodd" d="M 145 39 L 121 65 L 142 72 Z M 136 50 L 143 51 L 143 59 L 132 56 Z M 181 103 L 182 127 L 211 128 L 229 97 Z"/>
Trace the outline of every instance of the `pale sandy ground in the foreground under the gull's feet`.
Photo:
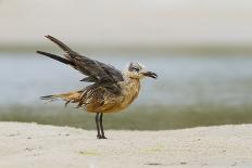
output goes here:
<path id="1" fill-rule="evenodd" d="M 252 167 L 252 125 L 96 131 L 0 122 L 1 168 Z"/>

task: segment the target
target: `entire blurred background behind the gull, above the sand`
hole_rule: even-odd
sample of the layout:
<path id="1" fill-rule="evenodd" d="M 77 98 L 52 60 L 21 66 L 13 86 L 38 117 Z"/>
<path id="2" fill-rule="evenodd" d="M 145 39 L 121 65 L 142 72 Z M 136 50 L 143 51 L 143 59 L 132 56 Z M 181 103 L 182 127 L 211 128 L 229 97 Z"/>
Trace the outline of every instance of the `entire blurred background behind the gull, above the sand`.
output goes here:
<path id="1" fill-rule="evenodd" d="M 48 57 L 52 35 L 123 69 L 159 74 L 106 129 L 162 130 L 252 122 L 250 0 L 0 0 L 0 120 L 94 129 L 94 115 L 39 96 L 78 90 L 81 74 Z"/>

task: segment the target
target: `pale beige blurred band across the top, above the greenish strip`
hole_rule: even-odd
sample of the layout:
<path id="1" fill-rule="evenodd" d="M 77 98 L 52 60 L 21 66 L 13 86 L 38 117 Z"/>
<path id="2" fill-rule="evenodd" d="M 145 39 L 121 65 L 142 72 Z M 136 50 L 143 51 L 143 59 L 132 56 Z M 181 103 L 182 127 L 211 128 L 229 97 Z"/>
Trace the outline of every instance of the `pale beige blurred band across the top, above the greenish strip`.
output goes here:
<path id="1" fill-rule="evenodd" d="M 0 0 L 0 44 L 252 43 L 251 0 Z"/>

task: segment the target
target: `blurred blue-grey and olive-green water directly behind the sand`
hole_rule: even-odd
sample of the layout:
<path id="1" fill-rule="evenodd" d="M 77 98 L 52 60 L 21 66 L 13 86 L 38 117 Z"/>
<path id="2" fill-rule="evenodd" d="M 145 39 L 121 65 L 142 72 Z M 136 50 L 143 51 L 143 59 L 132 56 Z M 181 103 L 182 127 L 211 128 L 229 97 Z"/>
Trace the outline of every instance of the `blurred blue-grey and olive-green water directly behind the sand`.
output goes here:
<path id="1" fill-rule="evenodd" d="M 133 129 L 135 126 L 136 129 L 169 129 L 252 122 L 248 120 L 248 115 L 252 112 L 252 57 L 250 56 L 139 54 L 128 56 L 100 53 L 92 57 L 119 69 L 130 61 L 139 61 L 159 75 L 158 80 L 142 81 L 140 95 L 128 109 L 133 113 L 115 115 L 115 120 L 125 122 L 124 127 L 111 125 L 109 128 Z M 77 125 L 78 115 L 90 117 L 89 115 L 68 113 L 74 111 L 73 107 L 62 109 L 62 103 L 43 104 L 39 100 L 41 95 L 85 87 L 84 82 L 78 81 L 81 78 L 83 75 L 78 72 L 48 57 L 37 54 L 1 53 L 0 119 L 93 128 L 91 124 L 90 127 L 81 125 L 81 121 Z M 51 109 L 54 113 L 48 113 Z M 140 112 L 142 109 L 143 113 Z M 60 111 L 65 113 L 62 114 Z M 213 115 L 212 120 L 207 120 L 211 118 L 210 114 Z M 58 117 L 52 119 L 53 115 Z M 74 116 L 72 121 L 68 115 Z M 142 115 L 146 121 L 141 119 L 129 121 L 133 116 L 136 119 L 141 118 Z M 62 117 L 61 121 L 59 117 Z M 149 121 L 156 119 L 160 124 L 150 127 L 148 117 Z M 128 120 L 124 120 L 125 118 Z"/>

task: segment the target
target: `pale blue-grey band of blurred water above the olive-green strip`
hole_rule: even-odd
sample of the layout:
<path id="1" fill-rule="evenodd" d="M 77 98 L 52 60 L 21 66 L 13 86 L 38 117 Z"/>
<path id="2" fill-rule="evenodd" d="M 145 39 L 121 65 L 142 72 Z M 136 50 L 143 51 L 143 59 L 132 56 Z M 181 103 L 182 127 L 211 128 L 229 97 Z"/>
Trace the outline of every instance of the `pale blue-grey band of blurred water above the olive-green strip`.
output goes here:
<path id="1" fill-rule="evenodd" d="M 252 103 L 251 57 L 144 57 L 96 56 L 118 69 L 130 61 L 143 63 L 159 79 L 144 79 L 137 104 Z M 41 104 L 40 95 L 78 90 L 84 76 L 53 60 L 38 55 L 0 55 L 0 104 Z"/>

